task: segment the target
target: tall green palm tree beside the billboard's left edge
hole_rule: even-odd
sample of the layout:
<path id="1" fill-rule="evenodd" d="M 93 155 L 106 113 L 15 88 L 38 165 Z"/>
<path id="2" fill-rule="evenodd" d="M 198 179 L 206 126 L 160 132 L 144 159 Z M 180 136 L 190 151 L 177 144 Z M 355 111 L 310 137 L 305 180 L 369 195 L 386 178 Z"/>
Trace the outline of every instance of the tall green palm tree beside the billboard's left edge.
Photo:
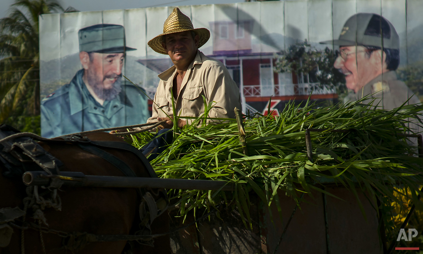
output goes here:
<path id="1" fill-rule="evenodd" d="M 39 115 L 39 15 L 77 11 L 58 0 L 15 0 L 11 8 L 0 19 L 0 123 Z"/>

